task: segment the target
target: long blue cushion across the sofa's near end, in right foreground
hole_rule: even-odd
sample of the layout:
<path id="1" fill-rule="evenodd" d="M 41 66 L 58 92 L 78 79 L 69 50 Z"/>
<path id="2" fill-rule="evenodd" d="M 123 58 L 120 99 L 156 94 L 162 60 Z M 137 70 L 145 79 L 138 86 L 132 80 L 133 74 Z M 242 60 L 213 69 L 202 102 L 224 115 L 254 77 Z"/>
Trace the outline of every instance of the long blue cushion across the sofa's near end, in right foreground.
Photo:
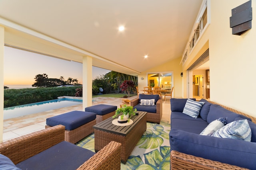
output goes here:
<path id="1" fill-rule="evenodd" d="M 171 150 L 248 169 L 256 167 L 256 143 L 171 129 Z M 238 147 L 239 146 L 239 147 Z"/>

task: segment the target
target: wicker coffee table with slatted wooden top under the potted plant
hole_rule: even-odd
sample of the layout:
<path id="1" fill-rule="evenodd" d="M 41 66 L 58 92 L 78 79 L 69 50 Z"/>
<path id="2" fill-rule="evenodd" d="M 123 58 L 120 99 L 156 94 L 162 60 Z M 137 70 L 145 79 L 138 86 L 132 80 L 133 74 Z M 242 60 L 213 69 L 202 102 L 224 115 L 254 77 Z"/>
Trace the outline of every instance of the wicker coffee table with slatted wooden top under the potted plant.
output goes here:
<path id="1" fill-rule="evenodd" d="M 110 141 L 121 143 L 121 162 L 125 164 L 130 153 L 147 129 L 147 112 L 138 112 L 138 115 L 131 118 L 133 121 L 131 125 L 114 125 L 112 123 L 114 120 L 112 117 L 94 125 L 95 151 L 98 152 L 110 143 Z"/>

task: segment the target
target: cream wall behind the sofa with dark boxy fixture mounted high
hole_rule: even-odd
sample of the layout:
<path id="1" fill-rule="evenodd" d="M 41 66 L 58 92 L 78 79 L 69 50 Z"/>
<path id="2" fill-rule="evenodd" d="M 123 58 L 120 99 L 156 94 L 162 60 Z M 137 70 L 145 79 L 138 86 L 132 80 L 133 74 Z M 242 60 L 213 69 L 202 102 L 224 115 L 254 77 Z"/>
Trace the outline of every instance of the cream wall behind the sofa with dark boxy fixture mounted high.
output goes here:
<path id="1" fill-rule="evenodd" d="M 256 1 L 252 1 L 252 29 L 232 35 L 231 10 L 248 0 L 211 0 L 210 98 L 225 106 L 256 116 Z"/>

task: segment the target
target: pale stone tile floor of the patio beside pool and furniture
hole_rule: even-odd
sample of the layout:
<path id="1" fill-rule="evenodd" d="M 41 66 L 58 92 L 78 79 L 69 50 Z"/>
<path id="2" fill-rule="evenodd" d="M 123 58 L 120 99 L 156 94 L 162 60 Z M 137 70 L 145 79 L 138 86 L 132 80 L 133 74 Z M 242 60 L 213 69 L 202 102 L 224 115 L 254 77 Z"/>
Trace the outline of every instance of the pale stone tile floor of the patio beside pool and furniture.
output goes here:
<path id="1" fill-rule="evenodd" d="M 132 100 L 137 96 L 130 97 Z M 122 104 L 122 98 L 104 98 L 97 97 L 93 98 L 92 105 L 97 104 L 108 104 L 120 107 Z M 44 111 L 40 113 L 34 113 L 30 115 L 24 115 L 21 117 L 16 117 L 12 119 L 4 120 L 4 133 L 3 133 L 3 141 L 8 139 L 16 138 L 21 135 L 26 135 L 28 133 L 39 131 L 45 128 L 46 118 L 52 117 L 55 115 L 60 115 L 62 113 L 66 113 L 69 111 L 80 110 L 83 111 L 82 104 L 78 104 L 70 107 L 63 107 L 60 109 L 54 109 L 49 111 Z M 170 100 L 163 101 L 163 115 L 162 120 L 170 121 Z"/>

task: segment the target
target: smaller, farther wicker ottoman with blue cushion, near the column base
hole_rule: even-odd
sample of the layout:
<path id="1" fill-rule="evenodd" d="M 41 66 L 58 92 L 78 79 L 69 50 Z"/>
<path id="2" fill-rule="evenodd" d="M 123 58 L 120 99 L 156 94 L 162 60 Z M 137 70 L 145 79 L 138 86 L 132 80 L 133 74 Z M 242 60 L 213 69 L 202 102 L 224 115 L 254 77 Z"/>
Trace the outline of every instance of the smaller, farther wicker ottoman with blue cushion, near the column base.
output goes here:
<path id="1" fill-rule="evenodd" d="M 116 113 L 117 106 L 98 104 L 95 106 L 86 107 L 84 110 L 96 113 L 96 124 L 100 123 Z"/>

